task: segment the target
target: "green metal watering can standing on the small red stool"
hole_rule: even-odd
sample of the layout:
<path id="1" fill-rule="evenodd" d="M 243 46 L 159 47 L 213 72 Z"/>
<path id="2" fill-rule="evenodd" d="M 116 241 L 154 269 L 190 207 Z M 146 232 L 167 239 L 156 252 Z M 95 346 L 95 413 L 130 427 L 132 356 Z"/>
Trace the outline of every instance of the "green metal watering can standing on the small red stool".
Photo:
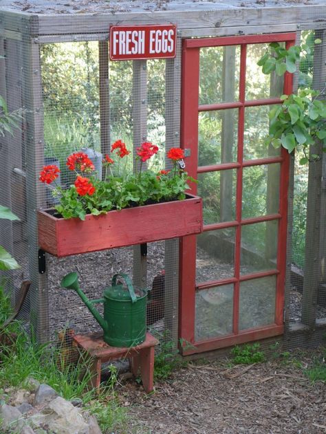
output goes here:
<path id="1" fill-rule="evenodd" d="M 117 284 L 118 277 L 122 277 L 127 284 Z M 75 290 L 83 300 L 91 314 L 103 329 L 103 339 L 112 347 L 134 347 L 144 342 L 146 338 L 146 305 L 149 290 L 135 290 L 127 274 L 115 274 L 112 286 L 104 290 L 103 298 L 89 300 L 80 290 L 78 274 L 67 274 L 61 286 Z M 96 303 L 104 303 L 104 317 L 94 307 Z"/>

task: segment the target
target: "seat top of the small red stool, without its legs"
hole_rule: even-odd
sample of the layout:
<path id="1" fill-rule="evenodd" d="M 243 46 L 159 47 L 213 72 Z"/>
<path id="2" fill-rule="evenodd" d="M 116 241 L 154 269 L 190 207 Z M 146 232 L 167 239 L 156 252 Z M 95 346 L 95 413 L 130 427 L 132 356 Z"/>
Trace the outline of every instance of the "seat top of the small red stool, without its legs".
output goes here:
<path id="1" fill-rule="evenodd" d="M 154 336 L 147 332 L 146 339 L 140 345 L 135 345 L 135 347 L 111 347 L 109 344 L 105 343 L 102 336 L 102 332 L 76 334 L 74 341 L 91 356 L 100 359 L 133 356 L 133 354 L 138 353 L 140 350 L 153 347 L 159 343 Z"/>

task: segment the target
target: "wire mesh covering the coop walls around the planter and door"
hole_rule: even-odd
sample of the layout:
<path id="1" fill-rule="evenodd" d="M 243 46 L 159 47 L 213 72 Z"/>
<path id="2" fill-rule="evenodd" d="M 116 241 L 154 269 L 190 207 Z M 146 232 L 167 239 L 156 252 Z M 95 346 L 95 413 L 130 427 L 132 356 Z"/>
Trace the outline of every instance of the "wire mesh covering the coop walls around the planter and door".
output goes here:
<path id="1" fill-rule="evenodd" d="M 21 17 L 7 20 L 21 28 Z M 80 35 L 78 42 L 39 45 L 31 39 L 29 22 L 24 24 L 19 39 L 10 35 L 0 39 L 0 55 L 6 56 L 0 60 L 0 94 L 10 110 L 26 110 L 20 128 L 1 138 L 0 203 L 20 217 L 20 221 L 0 221 L 1 245 L 21 265 L 19 270 L 2 273 L 12 303 L 17 301 L 21 281 L 31 279 L 21 318 L 39 340 L 56 338 L 63 327 L 91 332 L 98 329 L 97 323 L 75 294 L 60 288 L 61 278 L 77 271 L 80 287 L 90 299 L 98 299 L 113 274 L 127 272 L 136 285 L 154 287 L 157 303 L 149 307 L 149 327 L 161 334 L 170 331 L 176 343 L 176 239 L 149 243 L 146 254 L 139 246 L 62 259 L 46 254 L 47 268 L 41 274 L 35 210 L 54 205 L 50 190 L 38 181 L 39 170 L 43 164 L 58 164 L 61 185 L 69 184 L 65 159 L 74 151 L 93 152 L 100 167 L 102 156 L 115 140 L 121 139 L 130 149 L 150 140 L 160 148 L 155 167 L 164 167 L 166 149 L 180 145 L 180 52 L 171 61 L 113 63 L 108 60 L 108 43 L 103 38 L 97 41 L 96 35 L 88 35 L 87 39 L 93 40 L 83 41 Z M 304 73 L 314 89 L 323 93 L 325 32 L 316 32 L 323 42 Z M 303 32 L 303 37 L 306 34 Z M 128 170 L 132 171 L 131 162 Z M 300 166 L 296 157 L 292 171 L 284 348 L 318 345 L 326 323 L 325 158 L 321 156 L 308 169 Z M 204 250 L 202 259 L 207 254 Z"/>

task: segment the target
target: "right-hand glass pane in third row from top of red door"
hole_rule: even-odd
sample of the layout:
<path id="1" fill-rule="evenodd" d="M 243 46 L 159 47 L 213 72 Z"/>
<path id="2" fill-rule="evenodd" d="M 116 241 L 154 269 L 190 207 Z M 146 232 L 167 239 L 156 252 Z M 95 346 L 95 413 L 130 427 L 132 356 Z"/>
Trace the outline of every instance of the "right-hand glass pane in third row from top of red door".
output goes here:
<path id="1" fill-rule="evenodd" d="M 279 173 L 278 163 L 243 168 L 243 219 L 279 212 Z"/>

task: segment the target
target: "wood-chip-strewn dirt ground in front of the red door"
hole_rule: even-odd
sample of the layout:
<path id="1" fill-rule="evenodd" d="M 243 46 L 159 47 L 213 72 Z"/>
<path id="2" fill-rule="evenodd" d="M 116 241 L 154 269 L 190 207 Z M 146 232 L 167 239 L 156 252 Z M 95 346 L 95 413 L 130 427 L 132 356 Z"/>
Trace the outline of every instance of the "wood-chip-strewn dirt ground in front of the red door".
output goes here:
<path id="1" fill-rule="evenodd" d="M 128 382 L 119 395 L 130 434 L 325 434 L 326 384 L 305 376 L 311 359 L 298 360 L 188 362 L 149 396 Z"/>

